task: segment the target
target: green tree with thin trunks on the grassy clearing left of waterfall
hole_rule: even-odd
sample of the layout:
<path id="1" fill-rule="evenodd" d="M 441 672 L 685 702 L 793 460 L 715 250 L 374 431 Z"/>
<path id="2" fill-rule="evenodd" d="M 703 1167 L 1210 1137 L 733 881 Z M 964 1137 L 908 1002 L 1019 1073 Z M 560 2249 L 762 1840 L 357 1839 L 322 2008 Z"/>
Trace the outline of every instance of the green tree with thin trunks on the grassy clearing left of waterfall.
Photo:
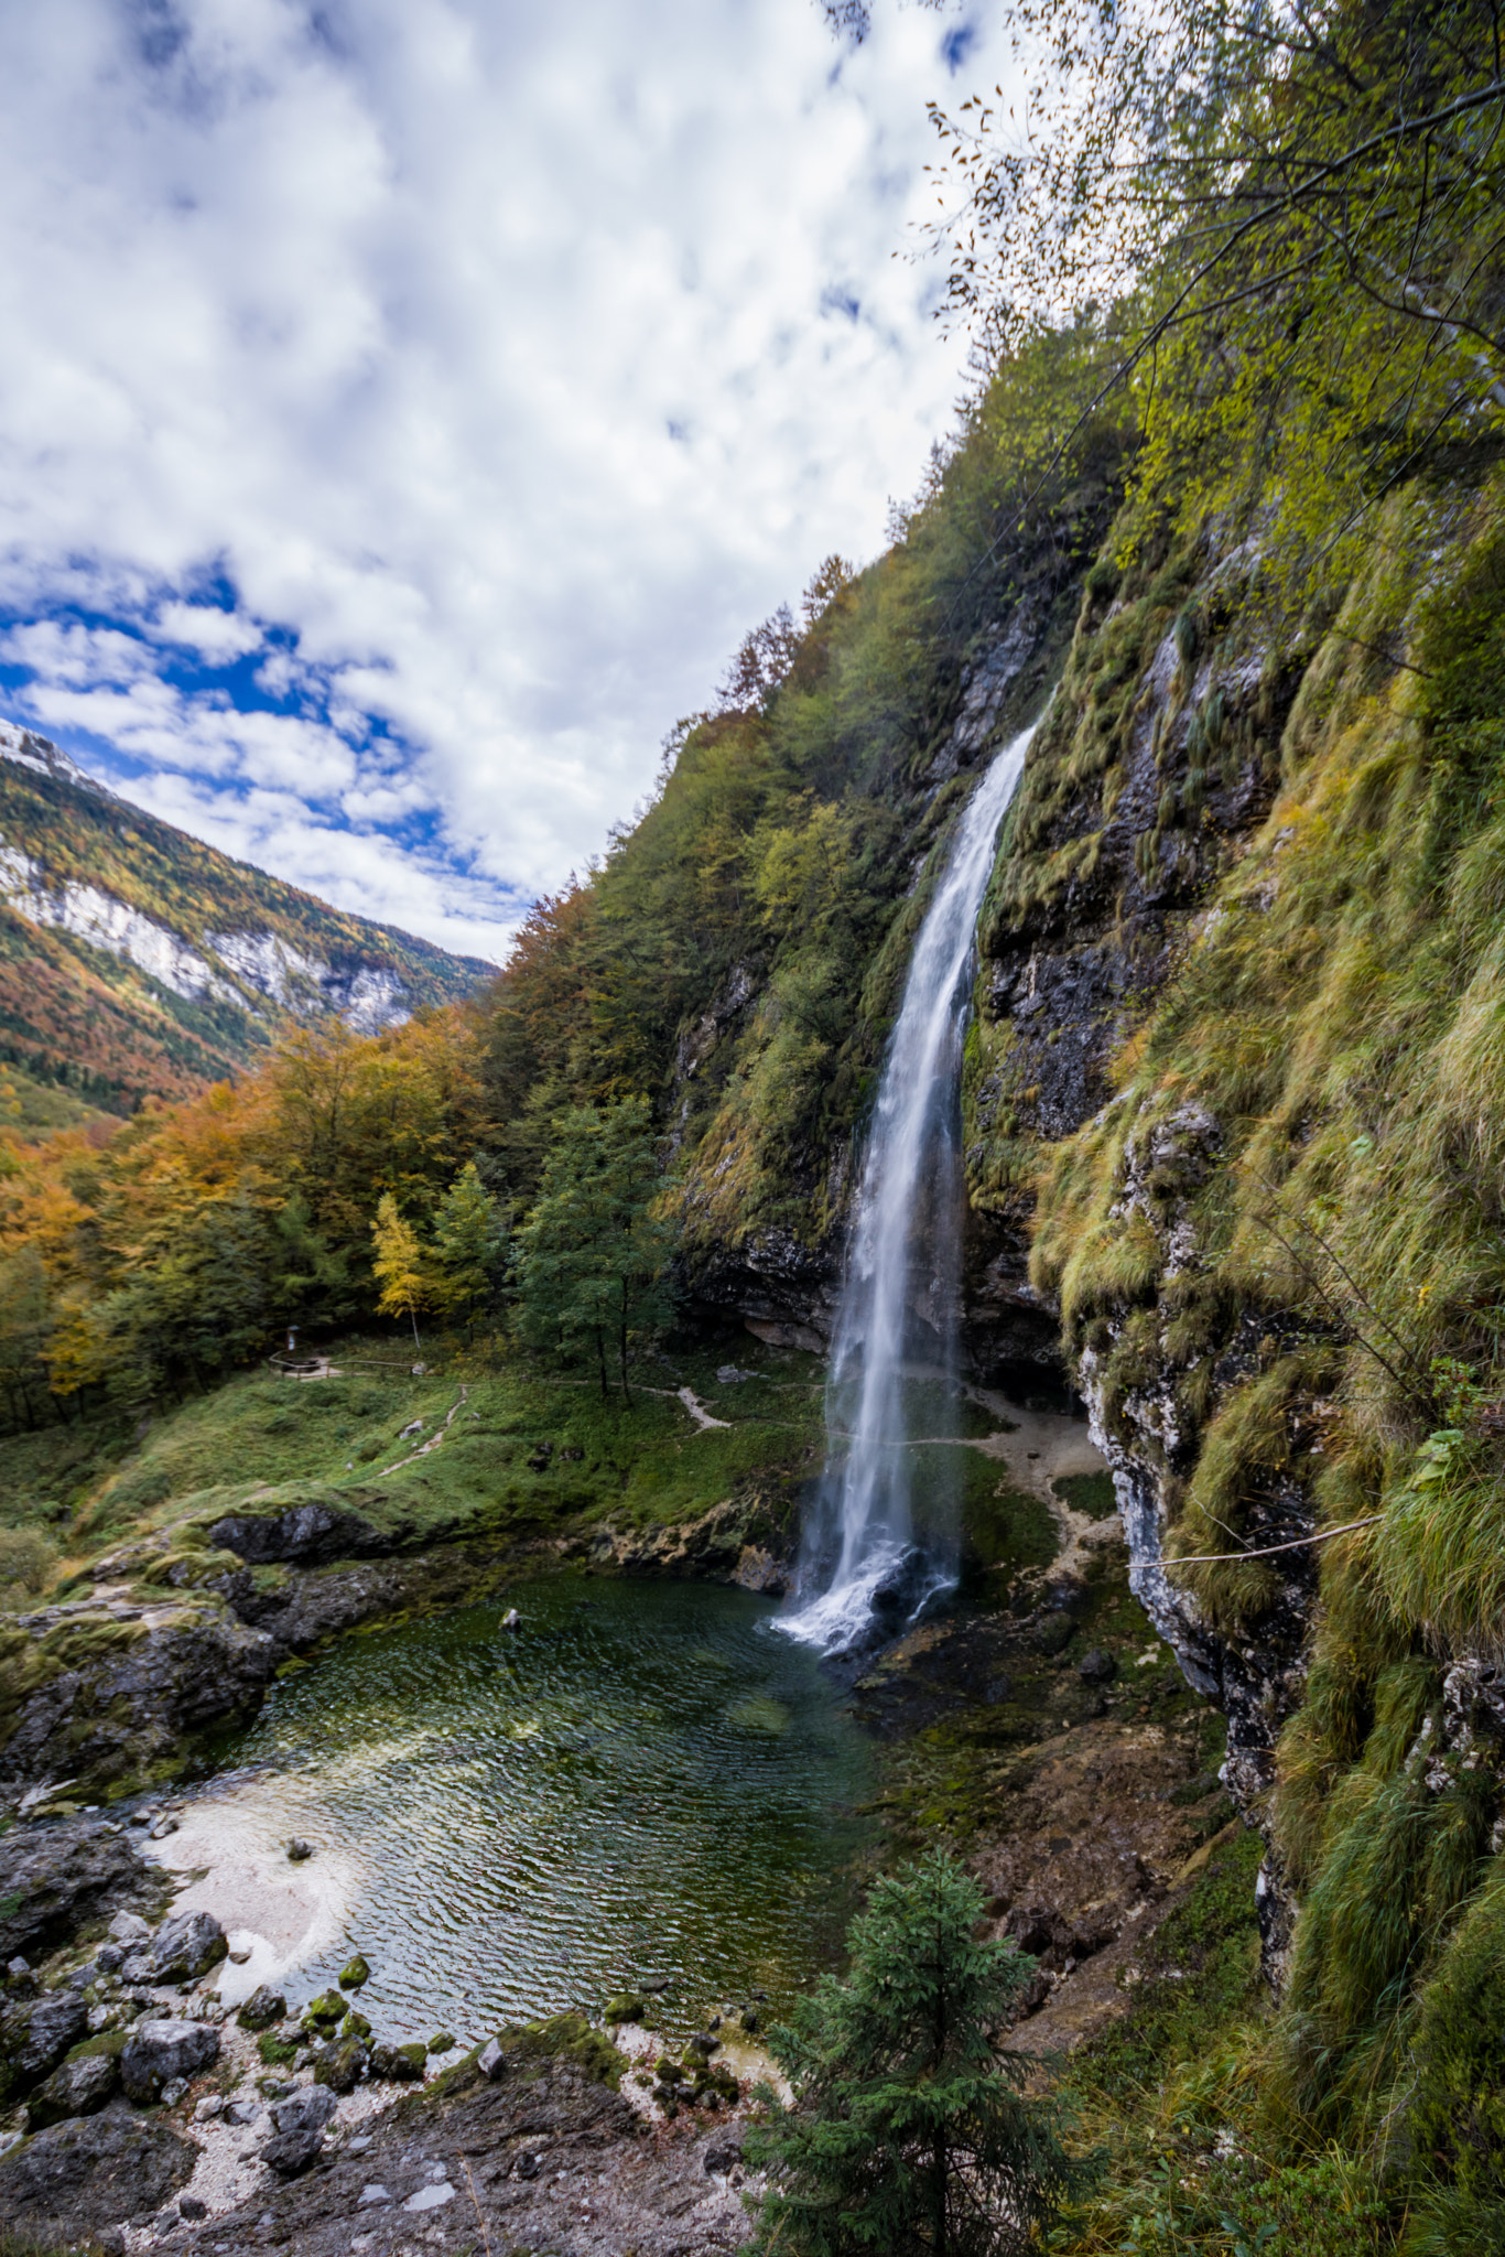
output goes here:
<path id="1" fill-rule="evenodd" d="M 661 1329 L 670 1311 L 672 1228 L 654 1214 L 663 1178 L 648 1104 L 575 1106 L 555 1133 L 537 1205 L 517 1235 L 519 1332 L 564 1354 L 591 1345 L 602 1395 L 611 1343 L 632 1402 L 627 1343 Z"/>

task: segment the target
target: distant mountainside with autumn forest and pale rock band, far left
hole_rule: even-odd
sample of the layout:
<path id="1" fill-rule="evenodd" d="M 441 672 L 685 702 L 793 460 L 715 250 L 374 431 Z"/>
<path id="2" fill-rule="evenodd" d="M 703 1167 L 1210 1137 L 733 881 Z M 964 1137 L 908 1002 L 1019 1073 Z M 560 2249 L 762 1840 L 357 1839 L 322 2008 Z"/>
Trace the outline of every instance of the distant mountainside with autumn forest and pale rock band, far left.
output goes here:
<path id="1" fill-rule="evenodd" d="M 490 971 L 232 862 L 0 722 L 0 1063 L 23 1126 L 192 1097 L 291 1027 L 375 1034 Z"/>

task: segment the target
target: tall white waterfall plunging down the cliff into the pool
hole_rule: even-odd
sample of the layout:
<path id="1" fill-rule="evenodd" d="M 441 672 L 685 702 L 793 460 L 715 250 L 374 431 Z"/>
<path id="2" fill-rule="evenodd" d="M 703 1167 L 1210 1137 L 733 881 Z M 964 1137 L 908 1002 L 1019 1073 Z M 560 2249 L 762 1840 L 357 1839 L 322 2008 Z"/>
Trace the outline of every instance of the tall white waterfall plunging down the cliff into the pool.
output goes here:
<path id="1" fill-rule="evenodd" d="M 977 785 L 925 912 L 862 1165 L 826 1388 L 826 1474 L 806 1533 L 790 1636 L 826 1652 L 873 1614 L 905 1618 L 957 1578 L 954 1526 L 914 1542 L 905 1381 L 954 1379 L 961 1286 L 961 1043 L 972 934 L 993 842 L 1031 731 Z"/>

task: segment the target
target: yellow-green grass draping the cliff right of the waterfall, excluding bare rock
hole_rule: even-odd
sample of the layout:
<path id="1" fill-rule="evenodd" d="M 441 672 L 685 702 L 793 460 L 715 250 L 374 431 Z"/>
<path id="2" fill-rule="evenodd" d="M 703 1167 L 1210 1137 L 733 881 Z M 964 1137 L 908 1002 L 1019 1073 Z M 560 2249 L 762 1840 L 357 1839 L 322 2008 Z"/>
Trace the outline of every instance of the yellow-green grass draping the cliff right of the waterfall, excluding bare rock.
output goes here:
<path id="1" fill-rule="evenodd" d="M 1167 837 L 1212 840 L 1223 876 L 1214 862 L 1187 898 L 1200 914 L 1160 993 L 1128 998 L 1121 1099 L 1056 1147 L 1022 1104 L 977 1140 L 984 1189 L 1045 1160 L 1033 1280 L 1158 1485 L 1171 1551 L 1236 1548 L 1282 1499 L 1306 1523 L 1379 1514 L 1320 1555 L 1279 1749 L 1270 1821 L 1304 1900 L 1286 2006 L 1268 2036 L 1209 2009 L 1221 2036 L 1198 2072 L 1223 2108 L 1259 2097 L 1273 2171 L 1318 2173 L 1306 2225 L 1266 2212 L 1270 2246 L 1302 2252 L 1329 2248 L 1318 2212 L 1361 2203 L 1372 2164 L 1388 2223 L 1358 2219 L 1340 2246 L 1498 2246 L 1505 2221 L 1505 2056 L 1480 1973 L 1505 1939 L 1505 1772 L 1487 1709 L 1464 1729 L 1444 1690 L 1449 1663 L 1498 1652 L 1505 1555 L 1505 483 L 1417 485 L 1376 535 L 1361 576 L 1306 612 L 1257 580 L 1223 582 L 1221 612 L 1212 580 L 1189 589 L 1198 664 L 1212 621 L 1214 675 L 1252 655 L 1264 682 L 1300 679 L 1279 743 L 1230 695 L 1250 722 L 1223 738 L 1230 774 L 1264 763 L 1275 803 L 1246 849 L 1216 849 L 1187 756 L 1162 758 Z M 995 880 L 1004 928 L 1070 914 L 1112 801 L 1090 715 L 1112 700 L 1126 740 L 1167 618 L 1126 668 L 1112 634 L 1079 643 Z M 1185 686 L 1173 702 L 1185 727 Z M 1196 1165 L 1155 1142 L 1189 1106 L 1216 1119 Z M 1255 1645 L 1279 1598 L 1257 1562 L 1187 1584 Z M 1451 1747 L 1442 1763 L 1422 1760 L 1428 1742 Z M 1336 2142 L 1327 2162 L 1311 2137 Z M 1158 2225 L 1146 2207 L 1133 2243 L 1083 2246 L 1234 2248 L 1178 2201 Z"/>

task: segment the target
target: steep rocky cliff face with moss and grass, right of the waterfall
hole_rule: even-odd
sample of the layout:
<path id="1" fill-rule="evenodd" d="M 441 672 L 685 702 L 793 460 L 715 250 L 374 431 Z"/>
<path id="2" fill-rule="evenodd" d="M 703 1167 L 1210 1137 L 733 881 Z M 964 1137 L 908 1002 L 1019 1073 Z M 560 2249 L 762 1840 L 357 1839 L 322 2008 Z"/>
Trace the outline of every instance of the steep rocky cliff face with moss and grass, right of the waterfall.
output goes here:
<path id="1" fill-rule="evenodd" d="M 963 1092 L 984 1338 L 1060 1327 L 1133 1587 L 1227 1711 L 1279 2079 L 1467 2203 L 1505 2192 L 1449 2009 L 1505 1846 L 1500 715 L 1498 474 L 1392 494 L 1300 600 L 1218 526 L 1099 567 Z"/>

